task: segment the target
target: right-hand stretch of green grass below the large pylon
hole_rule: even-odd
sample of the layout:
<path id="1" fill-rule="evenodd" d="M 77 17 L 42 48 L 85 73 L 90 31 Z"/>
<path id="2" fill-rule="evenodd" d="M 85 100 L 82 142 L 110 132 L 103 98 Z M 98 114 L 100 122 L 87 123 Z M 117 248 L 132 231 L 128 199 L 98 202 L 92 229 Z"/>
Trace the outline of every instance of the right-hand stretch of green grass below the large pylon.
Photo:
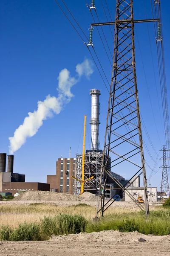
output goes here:
<path id="1" fill-rule="evenodd" d="M 170 210 L 151 211 L 146 220 L 144 212 L 135 214 L 110 215 L 100 218 L 92 223 L 88 222 L 86 232 L 98 232 L 103 230 L 119 230 L 120 232 L 133 232 L 148 235 L 163 236 L 170 234 Z"/>

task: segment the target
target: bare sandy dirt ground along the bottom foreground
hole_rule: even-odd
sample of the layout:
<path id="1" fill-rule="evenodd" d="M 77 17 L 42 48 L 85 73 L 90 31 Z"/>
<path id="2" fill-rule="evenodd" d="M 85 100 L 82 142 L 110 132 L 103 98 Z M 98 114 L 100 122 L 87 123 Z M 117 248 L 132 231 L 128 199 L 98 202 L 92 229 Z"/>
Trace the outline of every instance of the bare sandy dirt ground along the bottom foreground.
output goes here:
<path id="1" fill-rule="evenodd" d="M 146 241 L 139 242 L 143 238 Z M 0 256 L 170 256 L 169 236 L 102 231 L 54 236 L 49 241 L 2 241 Z"/>

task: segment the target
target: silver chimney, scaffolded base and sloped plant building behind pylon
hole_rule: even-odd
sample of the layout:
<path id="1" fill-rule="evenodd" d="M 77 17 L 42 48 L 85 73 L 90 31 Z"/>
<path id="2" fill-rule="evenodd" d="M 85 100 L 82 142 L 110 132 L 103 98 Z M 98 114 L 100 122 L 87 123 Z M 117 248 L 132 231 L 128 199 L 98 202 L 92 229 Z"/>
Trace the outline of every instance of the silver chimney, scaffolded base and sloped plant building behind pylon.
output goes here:
<path id="1" fill-rule="evenodd" d="M 93 179 L 88 180 L 85 182 L 84 190 L 98 194 L 99 191 L 99 182 L 100 182 L 100 174 L 102 170 L 102 159 L 103 159 L 103 151 L 99 149 L 99 114 L 100 114 L 100 103 L 99 103 L 99 96 L 100 96 L 100 90 L 92 89 L 90 90 L 91 95 L 91 149 L 86 150 L 85 154 L 85 166 L 84 166 L 84 180 L 89 179 L 90 177 L 94 176 Z M 104 162 L 105 162 L 105 156 L 104 156 Z M 111 173 L 113 177 L 115 177 L 119 182 L 124 186 L 128 180 L 125 180 L 121 175 L 118 175 L 114 172 L 111 172 L 111 166 L 108 166 L 108 171 Z M 76 156 L 76 178 L 81 180 L 82 179 L 82 154 L 77 154 Z M 139 186 L 140 182 L 138 182 L 134 179 L 135 186 Z M 120 188 L 116 184 L 116 182 L 113 181 L 113 179 L 106 175 L 105 177 L 102 177 L 102 186 L 104 186 L 105 183 L 105 197 L 111 198 L 113 195 L 120 193 Z M 80 195 L 81 191 L 81 183 L 76 180 L 75 182 L 75 194 Z M 124 193 L 120 195 L 122 198 L 124 196 Z"/>

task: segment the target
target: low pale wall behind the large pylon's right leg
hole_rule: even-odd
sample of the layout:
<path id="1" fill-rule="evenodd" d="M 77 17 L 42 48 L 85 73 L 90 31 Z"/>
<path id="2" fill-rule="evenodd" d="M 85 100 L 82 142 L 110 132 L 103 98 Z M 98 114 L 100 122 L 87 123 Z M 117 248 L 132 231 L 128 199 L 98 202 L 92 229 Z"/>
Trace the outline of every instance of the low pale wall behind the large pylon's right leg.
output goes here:
<path id="1" fill-rule="evenodd" d="M 132 188 L 127 189 L 131 195 L 133 195 L 134 198 L 138 198 L 138 195 L 142 195 L 142 198 L 144 200 L 144 189 L 143 188 Z M 147 188 L 147 195 L 149 202 L 156 202 L 157 201 L 157 188 L 155 187 L 148 187 Z M 126 202 L 132 202 L 132 199 L 125 193 L 125 201 Z"/>

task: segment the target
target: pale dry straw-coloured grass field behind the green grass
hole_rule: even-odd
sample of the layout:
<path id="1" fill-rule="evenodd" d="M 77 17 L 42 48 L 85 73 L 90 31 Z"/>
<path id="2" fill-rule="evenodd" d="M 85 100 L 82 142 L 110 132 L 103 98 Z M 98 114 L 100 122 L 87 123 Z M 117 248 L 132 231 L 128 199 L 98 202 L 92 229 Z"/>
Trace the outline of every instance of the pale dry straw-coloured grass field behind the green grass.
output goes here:
<path id="1" fill-rule="evenodd" d="M 139 209 L 131 207 L 110 207 L 105 212 L 106 215 L 124 215 L 125 213 L 139 212 Z M 0 226 L 9 225 L 17 227 L 19 224 L 40 222 L 44 216 L 55 216 L 59 214 L 82 215 L 87 220 L 94 218 L 96 207 L 86 204 L 72 206 L 57 206 L 54 204 L 1 204 L 0 205 Z"/>

